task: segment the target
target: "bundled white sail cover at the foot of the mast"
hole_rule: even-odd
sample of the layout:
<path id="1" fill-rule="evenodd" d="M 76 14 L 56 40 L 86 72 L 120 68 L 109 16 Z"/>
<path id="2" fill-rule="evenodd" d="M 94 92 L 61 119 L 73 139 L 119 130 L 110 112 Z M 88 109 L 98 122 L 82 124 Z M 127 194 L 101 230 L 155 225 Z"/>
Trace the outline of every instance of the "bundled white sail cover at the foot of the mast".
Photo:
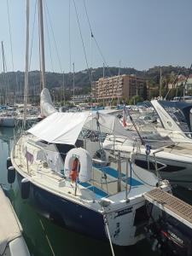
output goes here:
<path id="1" fill-rule="evenodd" d="M 44 88 L 41 92 L 40 107 L 41 107 L 41 115 L 43 117 L 47 117 L 51 113 L 57 112 L 51 100 L 49 90 L 47 88 Z"/>

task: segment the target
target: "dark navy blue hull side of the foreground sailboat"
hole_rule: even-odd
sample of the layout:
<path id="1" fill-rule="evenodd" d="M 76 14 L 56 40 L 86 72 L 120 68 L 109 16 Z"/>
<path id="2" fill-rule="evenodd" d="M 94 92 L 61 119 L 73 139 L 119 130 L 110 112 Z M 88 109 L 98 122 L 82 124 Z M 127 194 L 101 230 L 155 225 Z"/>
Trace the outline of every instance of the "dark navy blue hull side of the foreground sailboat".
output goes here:
<path id="1" fill-rule="evenodd" d="M 21 184 L 22 178 L 17 172 L 19 184 Z M 107 240 L 102 213 L 83 207 L 67 198 L 54 195 L 34 183 L 30 183 L 29 200 L 38 211 L 44 212 L 44 216 L 55 224 L 85 236 Z"/>

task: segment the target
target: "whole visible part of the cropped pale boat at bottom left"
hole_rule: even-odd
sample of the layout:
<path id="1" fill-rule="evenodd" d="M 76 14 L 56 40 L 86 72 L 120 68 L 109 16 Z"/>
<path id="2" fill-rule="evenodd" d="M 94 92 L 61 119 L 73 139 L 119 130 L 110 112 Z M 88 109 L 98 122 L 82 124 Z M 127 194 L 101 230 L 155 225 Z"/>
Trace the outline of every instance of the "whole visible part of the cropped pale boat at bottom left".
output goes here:
<path id="1" fill-rule="evenodd" d="M 0 187 L 0 255 L 30 256 L 22 236 L 20 221 L 14 208 Z"/>

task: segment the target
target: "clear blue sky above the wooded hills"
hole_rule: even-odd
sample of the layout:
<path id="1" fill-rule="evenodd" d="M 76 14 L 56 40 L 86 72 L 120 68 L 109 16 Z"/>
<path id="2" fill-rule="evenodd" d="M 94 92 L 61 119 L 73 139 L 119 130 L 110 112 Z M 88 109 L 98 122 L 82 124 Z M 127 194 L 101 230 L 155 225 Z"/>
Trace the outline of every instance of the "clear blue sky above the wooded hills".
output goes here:
<path id="1" fill-rule="evenodd" d="M 8 71 L 13 70 L 7 1 L 9 3 L 10 29 L 13 45 L 14 69 L 25 69 L 26 1 L 1 0 L 0 40 L 3 41 Z M 173 65 L 189 67 L 192 62 L 192 1 L 191 0 L 74 0 L 79 13 L 79 22 L 89 66 L 102 67 L 102 57 L 94 40 L 90 39 L 89 24 L 84 11 L 86 3 L 90 24 L 97 43 L 102 49 L 108 66 L 135 67 L 138 70 L 154 66 Z M 30 34 L 36 0 L 31 0 Z M 46 70 L 66 73 L 72 70 L 69 64 L 69 0 L 46 0 L 49 17 L 55 35 L 46 25 L 44 15 L 44 37 Z M 71 5 L 71 63 L 75 71 L 84 70 L 83 46 L 75 15 Z M 46 9 L 46 8 L 45 8 Z M 49 29 L 48 29 L 49 27 Z M 48 38 L 49 32 L 49 38 Z M 50 51 L 49 51 L 50 44 Z M 55 44 L 61 65 L 57 58 Z M 91 47 L 92 45 L 92 47 Z M 50 61 L 52 55 L 52 63 Z M 31 69 L 39 69 L 38 16 L 35 19 L 32 43 Z M 3 71 L 0 55 L 0 72 Z"/>

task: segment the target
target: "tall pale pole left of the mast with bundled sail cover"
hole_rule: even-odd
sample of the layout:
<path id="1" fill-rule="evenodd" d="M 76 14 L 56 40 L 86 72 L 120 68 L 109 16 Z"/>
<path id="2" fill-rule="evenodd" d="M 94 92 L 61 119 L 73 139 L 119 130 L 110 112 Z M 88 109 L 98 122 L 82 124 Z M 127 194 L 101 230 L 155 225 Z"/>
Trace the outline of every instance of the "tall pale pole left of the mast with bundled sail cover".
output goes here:
<path id="1" fill-rule="evenodd" d="M 24 116 L 23 126 L 26 127 L 26 106 L 28 96 L 28 73 L 29 73 L 29 0 L 26 0 L 26 70 L 25 70 L 25 87 L 24 87 Z"/>

